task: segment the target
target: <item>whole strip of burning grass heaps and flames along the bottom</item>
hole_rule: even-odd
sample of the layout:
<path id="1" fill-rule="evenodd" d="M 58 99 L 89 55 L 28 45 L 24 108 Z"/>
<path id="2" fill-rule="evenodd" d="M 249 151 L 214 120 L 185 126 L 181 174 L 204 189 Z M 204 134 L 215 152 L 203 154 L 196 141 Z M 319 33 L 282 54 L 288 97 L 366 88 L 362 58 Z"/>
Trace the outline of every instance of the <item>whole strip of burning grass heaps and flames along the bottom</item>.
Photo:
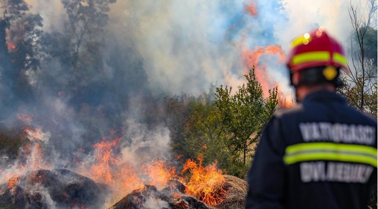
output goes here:
<path id="1" fill-rule="evenodd" d="M 20 149 L 25 159 L 12 169 L 0 170 L 2 188 L 6 188 L 0 192 L 1 207 L 113 205 L 112 209 L 226 209 L 244 206 L 245 194 L 240 188 L 245 184 L 223 175 L 216 162 L 203 166 L 202 155 L 197 160 L 186 161 L 182 170 L 162 159 L 134 165 L 121 158 L 120 138 L 104 137 L 93 145 L 92 155 L 77 161 L 77 174 L 50 167 L 43 148 L 49 136 L 41 129 L 27 127 L 24 137 L 29 139 Z M 76 180 L 67 180 L 67 176 Z M 106 189 L 100 185 L 106 185 Z M 100 195 L 104 191 L 106 200 Z"/>

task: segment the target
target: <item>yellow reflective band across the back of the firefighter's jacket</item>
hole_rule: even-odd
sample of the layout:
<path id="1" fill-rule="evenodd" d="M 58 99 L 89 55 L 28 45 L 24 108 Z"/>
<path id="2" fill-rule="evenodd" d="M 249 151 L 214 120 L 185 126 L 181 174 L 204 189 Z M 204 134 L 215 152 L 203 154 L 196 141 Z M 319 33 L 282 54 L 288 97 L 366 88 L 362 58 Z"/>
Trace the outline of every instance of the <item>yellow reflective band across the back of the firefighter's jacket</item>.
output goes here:
<path id="1" fill-rule="evenodd" d="M 308 142 L 288 146 L 284 162 L 291 165 L 304 161 L 340 161 L 377 167 L 377 148 L 331 142 Z"/>

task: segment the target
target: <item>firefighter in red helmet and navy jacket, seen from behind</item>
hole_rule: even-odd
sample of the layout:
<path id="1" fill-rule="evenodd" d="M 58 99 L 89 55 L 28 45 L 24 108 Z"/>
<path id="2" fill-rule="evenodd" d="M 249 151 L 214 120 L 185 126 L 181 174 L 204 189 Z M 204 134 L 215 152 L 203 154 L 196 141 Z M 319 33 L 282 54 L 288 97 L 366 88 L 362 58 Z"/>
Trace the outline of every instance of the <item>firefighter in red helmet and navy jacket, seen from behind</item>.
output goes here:
<path id="1" fill-rule="evenodd" d="M 323 27 L 292 43 L 298 105 L 265 125 L 248 174 L 246 209 L 366 209 L 377 186 L 377 121 L 336 94 L 346 67 Z"/>

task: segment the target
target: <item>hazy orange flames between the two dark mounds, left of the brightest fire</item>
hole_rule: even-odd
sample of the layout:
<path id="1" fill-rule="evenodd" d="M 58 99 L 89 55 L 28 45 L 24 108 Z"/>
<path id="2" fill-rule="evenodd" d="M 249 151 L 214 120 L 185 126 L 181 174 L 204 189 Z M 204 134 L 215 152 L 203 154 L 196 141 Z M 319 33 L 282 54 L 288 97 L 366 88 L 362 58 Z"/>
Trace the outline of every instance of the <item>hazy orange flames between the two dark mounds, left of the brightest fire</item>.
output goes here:
<path id="1" fill-rule="evenodd" d="M 176 176 L 175 168 L 168 166 L 168 163 L 162 160 L 144 164 L 139 168 L 133 167 L 128 162 L 122 162 L 116 152 L 120 141 L 120 138 L 107 140 L 103 137 L 101 142 L 93 145 L 95 161 L 90 162 L 89 165 L 80 162 L 82 165 L 77 170 L 78 173 L 96 182 L 110 186 L 112 195 L 109 204 L 123 198 L 132 190 L 143 189 L 145 184 L 164 188 L 167 182 Z"/>

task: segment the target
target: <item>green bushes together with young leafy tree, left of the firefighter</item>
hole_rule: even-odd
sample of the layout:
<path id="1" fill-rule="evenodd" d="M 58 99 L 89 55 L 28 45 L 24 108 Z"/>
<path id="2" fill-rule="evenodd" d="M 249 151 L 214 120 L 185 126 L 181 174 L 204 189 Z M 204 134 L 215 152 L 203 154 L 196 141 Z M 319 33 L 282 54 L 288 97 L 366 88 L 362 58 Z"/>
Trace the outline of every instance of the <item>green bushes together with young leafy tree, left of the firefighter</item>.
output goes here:
<path id="1" fill-rule="evenodd" d="M 269 90 L 264 98 L 254 68 L 245 78 L 247 83 L 236 92 L 232 87 L 217 87 L 215 101 L 211 99 L 211 88 L 197 98 L 166 100 L 174 116 L 170 129 L 176 154 L 183 154 L 184 159 L 203 154 L 205 165 L 216 161 L 226 173 L 245 176 L 253 145 L 278 104 L 277 88 Z M 184 128 L 180 129 L 180 125 Z"/>

